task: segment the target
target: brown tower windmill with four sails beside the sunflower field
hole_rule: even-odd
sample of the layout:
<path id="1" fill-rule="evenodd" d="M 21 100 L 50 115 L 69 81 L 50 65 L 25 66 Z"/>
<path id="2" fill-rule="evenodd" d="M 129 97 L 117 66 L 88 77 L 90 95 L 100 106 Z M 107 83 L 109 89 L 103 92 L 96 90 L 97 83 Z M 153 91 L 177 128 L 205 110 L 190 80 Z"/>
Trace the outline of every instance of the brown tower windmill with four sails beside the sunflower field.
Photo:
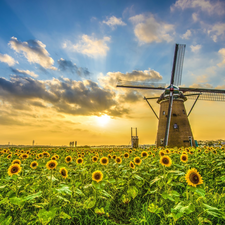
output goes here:
<path id="1" fill-rule="evenodd" d="M 135 85 L 129 83 L 124 84 L 123 82 L 117 84 L 117 87 L 122 88 L 164 91 L 159 97 L 144 97 L 144 100 L 146 100 L 156 118 L 159 120 L 156 141 L 157 147 L 195 147 L 188 116 L 193 110 L 197 100 L 225 101 L 225 90 L 179 87 L 179 85 L 181 85 L 185 47 L 186 45 L 183 44 L 175 44 L 171 80 L 168 87 L 157 86 L 154 83 L 143 85 L 140 82 L 137 82 Z M 193 97 L 196 97 L 196 99 L 187 114 L 184 102 L 187 99 L 193 99 Z M 148 100 L 150 99 L 157 99 L 157 103 L 160 104 L 159 117 L 149 103 Z"/>

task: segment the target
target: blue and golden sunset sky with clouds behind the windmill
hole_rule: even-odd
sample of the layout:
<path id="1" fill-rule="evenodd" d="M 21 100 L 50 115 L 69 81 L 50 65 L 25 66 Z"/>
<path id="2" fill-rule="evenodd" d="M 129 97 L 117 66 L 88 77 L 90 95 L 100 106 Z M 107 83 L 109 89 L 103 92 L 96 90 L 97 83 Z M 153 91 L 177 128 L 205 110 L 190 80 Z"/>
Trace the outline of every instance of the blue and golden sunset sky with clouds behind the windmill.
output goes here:
<path id="1" fill-rule="evenodd" d="M 162 91 L 116 85 L 169 85 L 175 43 L 186 44 L 182 86 L 225 89 L 222 0 L 1 0 L 0 144 L 128 145 L 131 127 L 154 144 L 143 97 Z M 225 139 L 224 112 L 199 100 L 194 139 Z"/>

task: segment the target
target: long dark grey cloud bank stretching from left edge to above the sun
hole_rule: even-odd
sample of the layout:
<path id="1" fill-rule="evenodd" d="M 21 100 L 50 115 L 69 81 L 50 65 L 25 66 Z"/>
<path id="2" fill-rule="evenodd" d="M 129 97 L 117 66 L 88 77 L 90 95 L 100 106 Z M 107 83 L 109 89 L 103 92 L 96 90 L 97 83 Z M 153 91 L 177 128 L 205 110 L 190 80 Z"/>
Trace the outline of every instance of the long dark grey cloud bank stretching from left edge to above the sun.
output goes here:
<path id="1" fill-rule="evenodd" d="M 97 83 L 61 78 L 38 81 L 28 77 L 0 78 L 0 98 L 14 109 L 29 110 L 29 105 L 50 107 L 72 115 L 123 116 L 129 110 L 119 105 L 116 93 Z"/>

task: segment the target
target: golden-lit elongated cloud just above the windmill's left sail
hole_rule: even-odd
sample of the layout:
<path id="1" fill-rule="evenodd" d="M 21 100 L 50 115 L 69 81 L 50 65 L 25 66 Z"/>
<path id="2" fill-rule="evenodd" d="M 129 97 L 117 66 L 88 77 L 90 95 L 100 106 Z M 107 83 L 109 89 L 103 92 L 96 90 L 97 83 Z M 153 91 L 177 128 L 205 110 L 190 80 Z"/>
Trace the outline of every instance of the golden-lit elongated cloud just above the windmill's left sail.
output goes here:
<path id="1" fill-rule="evenodd" d="M 162 76 L 155 70 L 133 70 L 130 73 L 108 72 L 106 76 L 99 78 L 100 82 L 110 89 L 115 89 L 118 81 L 124 82 L 152 82 L 162 80 Z"/>

